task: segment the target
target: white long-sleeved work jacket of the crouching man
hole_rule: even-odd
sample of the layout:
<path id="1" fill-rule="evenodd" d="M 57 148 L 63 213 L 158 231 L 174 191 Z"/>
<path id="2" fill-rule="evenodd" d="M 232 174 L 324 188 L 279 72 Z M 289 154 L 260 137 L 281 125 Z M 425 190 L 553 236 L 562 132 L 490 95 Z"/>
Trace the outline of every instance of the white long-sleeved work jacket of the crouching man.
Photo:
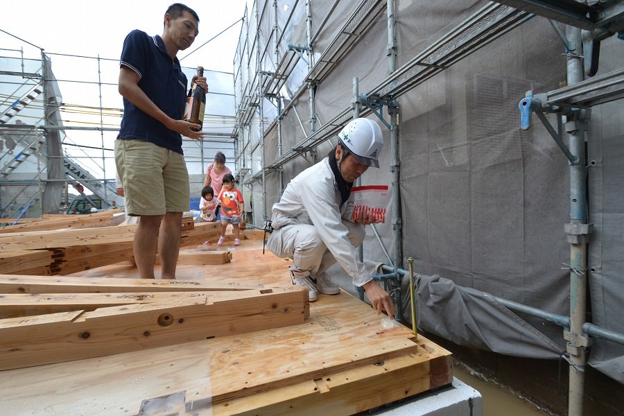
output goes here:
<path id="1" fill-rule="evenodd" d="M 333 257 L 353 279 L 355 286 L 372 280 L 358 259 L 357 248 L 347 238 L 343 220 L 351 221 L 354 203 L 349 198 L 340 206 L 340 191 L 325 157 L 297 175 L 284 190 L 281 200 L 273 205 L 272 226 L 314 225 Z"/>

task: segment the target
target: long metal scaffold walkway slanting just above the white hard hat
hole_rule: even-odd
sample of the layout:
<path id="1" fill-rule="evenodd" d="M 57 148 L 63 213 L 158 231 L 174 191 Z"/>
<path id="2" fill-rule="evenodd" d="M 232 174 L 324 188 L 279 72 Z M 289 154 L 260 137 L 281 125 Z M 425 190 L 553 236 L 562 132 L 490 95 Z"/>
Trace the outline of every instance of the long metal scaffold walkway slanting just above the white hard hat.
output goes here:
<path id="1" fill-rule="evenodd" d="M 433 43 L 427 49 L 416 55 L 412 60 L 397 69 L 388 78 L 385 78 L 367 96 L 379 96 L 381 98 L 397 98 L 410 89 L 424 83 L 435 74 L 444 71 L 452 64 L 466 58 L 489 42 L 512 31 L 517 26 L 533 17 L 532 14 L 517 10 L 501 4 L 489 3 L 478 10 L 474 15 L 462 22 L 440 40 Z M 363 108 L 361 116 L 370 112 Z M 351 107 L 340 112 L 329 123 L 306 137 L 297 144 L 293 150 L 278 157 L 265 167 L 264 174 L 276 171 L 284 164 L 295 159 L 310 148 L 314 148 L 333 135 L 352 118 Z M 263 171 L 252 175 L 245 184 L 252 184 L 261 180 Z"/>

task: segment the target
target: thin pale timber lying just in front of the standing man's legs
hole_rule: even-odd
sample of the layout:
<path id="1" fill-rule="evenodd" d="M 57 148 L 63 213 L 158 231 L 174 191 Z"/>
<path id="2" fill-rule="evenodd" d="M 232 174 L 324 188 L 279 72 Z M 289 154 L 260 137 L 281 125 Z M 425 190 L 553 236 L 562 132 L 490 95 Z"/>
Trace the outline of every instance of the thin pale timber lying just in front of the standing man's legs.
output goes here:
<path id="1" fill-rule="evenodd" d="M 120 293 L 181 291 L 249 291 L 264 288 L 259 282 L 204 280 L 125 279 L 123 277 L 42 277 L 0 275 L 0 293 Z"/>

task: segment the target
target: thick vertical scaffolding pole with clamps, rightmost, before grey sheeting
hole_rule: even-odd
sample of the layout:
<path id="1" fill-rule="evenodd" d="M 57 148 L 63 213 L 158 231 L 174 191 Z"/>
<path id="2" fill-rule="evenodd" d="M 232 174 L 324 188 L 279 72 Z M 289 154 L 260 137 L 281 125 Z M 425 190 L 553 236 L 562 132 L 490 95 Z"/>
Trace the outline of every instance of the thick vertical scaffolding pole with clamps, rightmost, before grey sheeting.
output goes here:
<path id="1" fill-rule="evenodd" d="M 567 85 L 583 80 L 581 29 L 566 26 L 566 37 L 571 48 L 566 53 Z M 584 112 L 579 112 L 584 114 Z M 577 159 L 570 164 L 570 224 L 566 232 L 570 243 L 570 331 L 564 336 L 570 354 L 568 415 L 582 416 L 584 368 L 587 365 L 587 338 L 583 335 L 587 302 L 587 189 L 585 184 L 584 119 L 579 115 L 567 116 L 569 150 Z"/>

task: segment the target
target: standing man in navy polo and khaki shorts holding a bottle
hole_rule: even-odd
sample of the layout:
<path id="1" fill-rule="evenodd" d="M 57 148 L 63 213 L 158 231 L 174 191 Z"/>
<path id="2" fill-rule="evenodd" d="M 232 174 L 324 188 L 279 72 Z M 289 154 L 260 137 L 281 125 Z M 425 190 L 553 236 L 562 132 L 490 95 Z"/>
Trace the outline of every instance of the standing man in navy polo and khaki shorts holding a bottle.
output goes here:
<path id="1" fill-rule="evenodd" d="M 162 279 L 175 279 L 180 219 L 189 210 L 189 173 L 182 136 L 202 139 L 200 126 L 182 120 L 187 77 L 175 55 L 198 34 L 199 17 L 174 3 L 164 15 L 161 36 L 132 31 L 123 42 L 119 94 L 123 119 L 115 141 L 115 164 L 125 193 L 125 211 L 140 216 L 134 254 L 139 277 L 154 279 L 156 248 Z M 193 81 L 205 91 L 206 78 Z"/>

